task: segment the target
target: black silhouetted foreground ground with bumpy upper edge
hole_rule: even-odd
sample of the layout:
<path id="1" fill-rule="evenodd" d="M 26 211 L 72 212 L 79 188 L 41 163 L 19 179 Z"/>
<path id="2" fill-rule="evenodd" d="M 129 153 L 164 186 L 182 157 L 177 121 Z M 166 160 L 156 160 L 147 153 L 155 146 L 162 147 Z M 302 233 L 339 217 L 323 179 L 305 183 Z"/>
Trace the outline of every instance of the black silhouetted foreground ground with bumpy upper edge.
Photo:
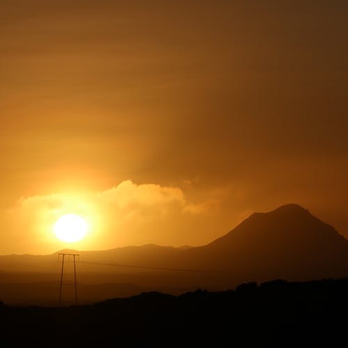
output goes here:
<path id="1" fill-rule="evenodd" d="M 348 279 L 0 313 L 1 347 L 338 347 L 348 342 Z"/>

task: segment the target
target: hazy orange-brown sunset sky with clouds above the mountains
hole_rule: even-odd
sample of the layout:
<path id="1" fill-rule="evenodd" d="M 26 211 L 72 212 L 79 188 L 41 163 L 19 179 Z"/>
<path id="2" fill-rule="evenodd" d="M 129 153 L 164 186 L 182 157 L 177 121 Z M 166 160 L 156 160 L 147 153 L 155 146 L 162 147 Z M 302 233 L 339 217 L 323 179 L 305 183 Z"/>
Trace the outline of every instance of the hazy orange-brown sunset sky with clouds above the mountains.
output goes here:
<path id="1" fill-rule="evenodd" d="M 348 2 L 0 5 L 0 253 L 200 245 L 299 203 L 348 237 Z"/>

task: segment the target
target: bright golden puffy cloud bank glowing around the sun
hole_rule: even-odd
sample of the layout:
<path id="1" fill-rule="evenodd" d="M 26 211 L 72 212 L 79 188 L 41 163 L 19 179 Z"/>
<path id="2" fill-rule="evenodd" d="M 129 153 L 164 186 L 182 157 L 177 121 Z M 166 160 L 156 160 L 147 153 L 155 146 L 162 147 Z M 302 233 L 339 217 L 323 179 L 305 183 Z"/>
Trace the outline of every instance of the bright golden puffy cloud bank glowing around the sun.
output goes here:
<path id="1" fill-rule="evenodd" d="M 192 203 L 178 187 L 126 180 L 110 189 L 84 195 L 22 197 L 8 210 L 6 229 L 19 241 L 23 252 L 56 251 L 54 223 L 63 214 L 72 213 L 84 217 L 90 226 L 89 237 L 79 242 L 81 248 L 156 243 L 156 236 L 175 233 L 180 219 L 194 219 L 216 209 L 218 204 L 217 200 Z"/>

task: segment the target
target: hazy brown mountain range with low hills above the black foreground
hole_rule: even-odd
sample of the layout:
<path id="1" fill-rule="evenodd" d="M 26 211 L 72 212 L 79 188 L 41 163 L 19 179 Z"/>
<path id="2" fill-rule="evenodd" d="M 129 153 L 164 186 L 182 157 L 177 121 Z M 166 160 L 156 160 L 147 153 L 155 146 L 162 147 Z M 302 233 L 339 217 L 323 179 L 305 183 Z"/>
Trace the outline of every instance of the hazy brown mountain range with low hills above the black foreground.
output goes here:
<path id="1" fill-rule="evenodd" d="M 205 246 L 149 244 L 79 253 L 78 282 L 85 301 L 100 300 L 106 294 L 127 296 L 150 290 L 179 294 L 199 287 L 226 290 L 239 283 L 277 278 L 348 276 L 347 239 L 295 204 L 252 214 Z M 6 271 L 0 274 L 0 283 L 26 283 L 28 294 L 29 283 L 58 284 L 61 263 L 57 256 L 0 256 L 0 269 Z M 6 299 L 3 291 L 0 288 L 0 297 Z M 38 290 L 33 290 L 32 298 L 40 298 Z"/>

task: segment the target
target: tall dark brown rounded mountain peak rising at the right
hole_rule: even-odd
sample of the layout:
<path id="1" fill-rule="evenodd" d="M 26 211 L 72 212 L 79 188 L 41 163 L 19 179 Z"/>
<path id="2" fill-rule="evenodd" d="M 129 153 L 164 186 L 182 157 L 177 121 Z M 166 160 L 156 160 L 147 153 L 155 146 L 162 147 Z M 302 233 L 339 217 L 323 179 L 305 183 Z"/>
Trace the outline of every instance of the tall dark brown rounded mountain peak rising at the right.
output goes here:
<path id="1" fill-rule="evenodd" d="M 229 269 L 257 279 L 347 276 L 348 241 L 295 204 L 255 213 L 227 235 L 190 250 L 201 267 Z M 198 266 L 198 264 L 196 264 Z"/>

